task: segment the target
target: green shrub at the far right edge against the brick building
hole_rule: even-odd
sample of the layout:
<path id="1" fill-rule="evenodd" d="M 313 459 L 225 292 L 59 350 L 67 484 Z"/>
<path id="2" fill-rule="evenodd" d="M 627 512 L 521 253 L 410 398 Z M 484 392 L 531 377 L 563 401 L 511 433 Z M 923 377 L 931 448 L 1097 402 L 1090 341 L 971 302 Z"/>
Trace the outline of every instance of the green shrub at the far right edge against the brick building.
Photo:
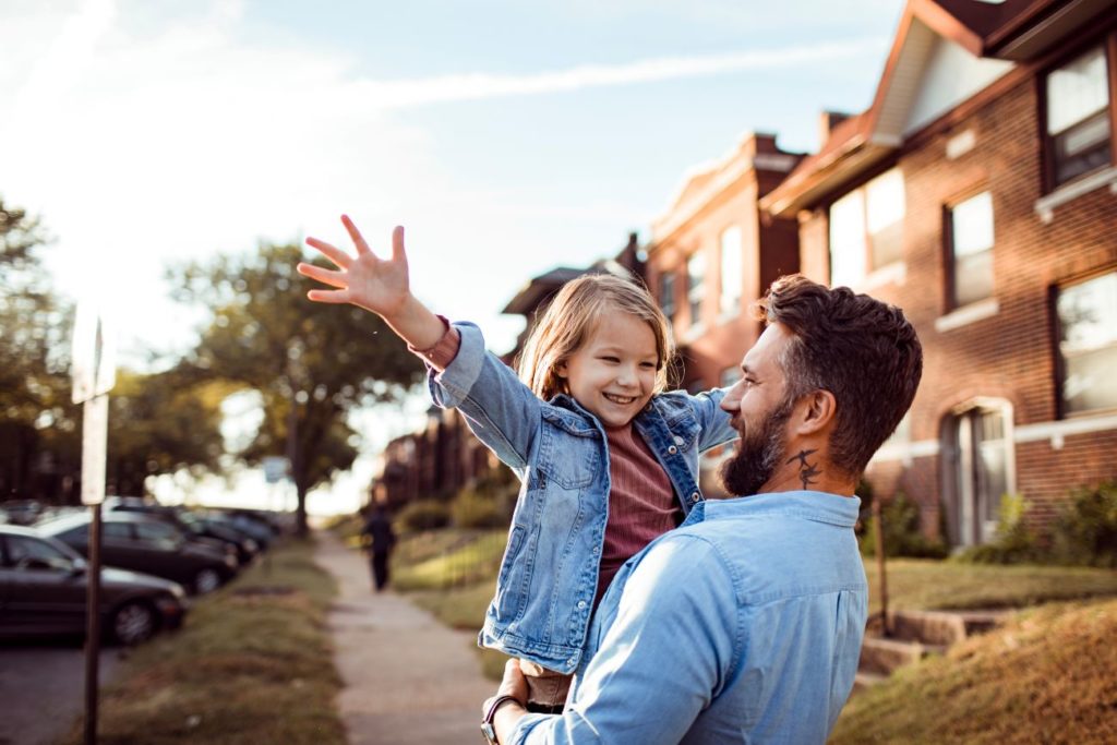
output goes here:
<path id="1" fill-rule="evenodd" d="M 1071 493 L 1052 526 L 1051 553 L 1060 564 L 1117 569 L 1117 481 Z"/>

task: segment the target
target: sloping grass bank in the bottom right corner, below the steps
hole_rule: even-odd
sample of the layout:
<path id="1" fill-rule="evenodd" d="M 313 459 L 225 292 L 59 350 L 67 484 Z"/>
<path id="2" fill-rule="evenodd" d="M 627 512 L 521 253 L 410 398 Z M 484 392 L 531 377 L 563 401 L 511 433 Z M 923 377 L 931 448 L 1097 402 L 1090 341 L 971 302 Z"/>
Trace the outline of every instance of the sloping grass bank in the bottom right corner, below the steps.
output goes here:
<path id="1" fill-rule="evenodd" d="M 1056 603 L 853 696 L 831 742 L 1117 742 L 1117 600 Z"/>

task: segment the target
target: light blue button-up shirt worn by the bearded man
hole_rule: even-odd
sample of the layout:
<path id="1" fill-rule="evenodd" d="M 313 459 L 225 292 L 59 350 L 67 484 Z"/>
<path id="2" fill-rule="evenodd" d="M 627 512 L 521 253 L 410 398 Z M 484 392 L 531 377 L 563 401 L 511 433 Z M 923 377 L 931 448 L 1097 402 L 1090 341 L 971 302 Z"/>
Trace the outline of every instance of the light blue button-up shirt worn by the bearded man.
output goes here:
<path id="1" fill-rule="evenodd" d="M 617 575 L 566 711 L 510 743 L 824 743 L 853 686 L 868 585 L 860 499 L 697 505 Z"/>

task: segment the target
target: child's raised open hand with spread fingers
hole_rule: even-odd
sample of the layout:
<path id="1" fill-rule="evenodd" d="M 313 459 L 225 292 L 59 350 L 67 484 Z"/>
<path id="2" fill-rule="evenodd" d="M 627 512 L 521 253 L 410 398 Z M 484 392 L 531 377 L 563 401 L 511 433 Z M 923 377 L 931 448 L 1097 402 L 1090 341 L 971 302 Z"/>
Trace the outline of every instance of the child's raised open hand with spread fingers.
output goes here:
<path id="1" fill-rule="evenodd" d="M 331 246 L 317 238 L 307 238 L 306 243 L 316 248 L 337 269 L 325 269 L 313 264 L 299 262 L 296 270 L 311 279 L 336 289 L 312 289 L 307 297 L 317 303 L 352 303 L 389 319 L 400 313 L 411 297 L 408 280 L 408 257 L 403 250 L 403 228 L 392 231 L 392 257 L 378 258 L 361 231 L 349 216 L 342 216 L 342 225 L 349 231 L 356 256 Z"/>

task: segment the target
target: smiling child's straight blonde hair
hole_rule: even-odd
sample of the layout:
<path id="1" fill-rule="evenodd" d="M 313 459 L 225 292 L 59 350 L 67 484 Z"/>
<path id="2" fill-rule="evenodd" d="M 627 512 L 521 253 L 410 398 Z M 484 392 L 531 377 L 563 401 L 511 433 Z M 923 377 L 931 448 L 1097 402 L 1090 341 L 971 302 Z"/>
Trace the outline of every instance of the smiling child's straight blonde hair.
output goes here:
<path id="1" fill-rule="evenodd" d="M 675 354 L 667 318 L 643 285 L 610 274 L 583 275 L 558 290 L 524 343 L 517 365 L 519 379 L 544 401 L 569 393 L 558 366 L 589 341 L 609 313 L 627 313 L 651 327 L 657 355 L 652 393 L 662 393 Z"/>

